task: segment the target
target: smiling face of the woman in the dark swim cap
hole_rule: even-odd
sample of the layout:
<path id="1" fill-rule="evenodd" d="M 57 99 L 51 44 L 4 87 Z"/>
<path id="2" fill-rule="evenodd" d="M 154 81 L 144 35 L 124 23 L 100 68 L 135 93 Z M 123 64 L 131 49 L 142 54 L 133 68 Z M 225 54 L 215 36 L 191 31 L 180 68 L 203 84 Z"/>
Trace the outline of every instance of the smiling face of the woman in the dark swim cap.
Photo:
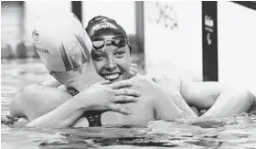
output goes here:
<path id="1" fill-rule="evenodd" d="M 123 47 L 113 45 L 110 40 L 115 36 L 103 37 L 106 39 L 106 44 L 102 47 L 104 49 L 94 48 L 91 51 L 91 58 L 98 74 L 105 80 L 112 82 L 127 80 L 132 62 L 130 48 L 127 43 Z"/>

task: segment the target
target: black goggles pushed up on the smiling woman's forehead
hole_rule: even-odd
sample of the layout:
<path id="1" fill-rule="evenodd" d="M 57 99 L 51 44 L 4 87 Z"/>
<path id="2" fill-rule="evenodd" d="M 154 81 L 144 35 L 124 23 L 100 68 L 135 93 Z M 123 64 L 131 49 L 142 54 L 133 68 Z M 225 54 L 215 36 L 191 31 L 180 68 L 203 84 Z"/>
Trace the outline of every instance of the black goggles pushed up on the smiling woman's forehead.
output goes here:
<path id="1" fill-rule="evenodd" d="M 104 37 L 91 37 L 91 42 L 95 49 L 104 48 L 107 45 L 107 41 L 111 41 L 113 46 L 123 48 L 129 40 L 126 37 L 123 37 L 123 35 L 112 37 L 112 39 L 109 40 Z"/>

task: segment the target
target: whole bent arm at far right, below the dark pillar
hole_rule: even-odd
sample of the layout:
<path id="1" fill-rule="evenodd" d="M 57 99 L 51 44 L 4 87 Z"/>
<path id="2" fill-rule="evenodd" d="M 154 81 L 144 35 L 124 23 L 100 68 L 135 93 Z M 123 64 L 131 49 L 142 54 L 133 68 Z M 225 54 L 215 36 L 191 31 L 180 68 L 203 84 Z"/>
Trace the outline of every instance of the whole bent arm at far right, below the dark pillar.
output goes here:
<path id="1" fill-rule="evenodd" d="M 183 82 L 181 94 L 189 105 L 208 109 L 201 118 L 229 116 L 247 112 L 255 100 L 250 91 L 235 89 L 219 82 Z"/>

